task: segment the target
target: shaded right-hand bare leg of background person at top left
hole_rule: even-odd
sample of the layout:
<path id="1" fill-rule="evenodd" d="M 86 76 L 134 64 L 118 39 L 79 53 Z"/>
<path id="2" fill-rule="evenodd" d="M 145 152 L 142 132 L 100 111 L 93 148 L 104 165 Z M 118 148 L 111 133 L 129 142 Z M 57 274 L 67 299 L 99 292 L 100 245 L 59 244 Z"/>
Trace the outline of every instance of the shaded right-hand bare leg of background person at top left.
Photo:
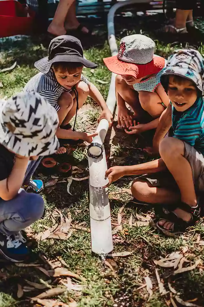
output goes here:
<path id="1" fill-rule="evenodd" d="M 70 6 L 69 11 L 67 12 L 67 16 L 65 19 L 65 29 L 67 31 L 75 30 L 79 26 L 80 26 L 80 23 L 76 18 L 76 1 L 74 1 L 72 5 Z M 81 28 L 81 32 L 87 34 L 89 30 L 83 26 Z"/>

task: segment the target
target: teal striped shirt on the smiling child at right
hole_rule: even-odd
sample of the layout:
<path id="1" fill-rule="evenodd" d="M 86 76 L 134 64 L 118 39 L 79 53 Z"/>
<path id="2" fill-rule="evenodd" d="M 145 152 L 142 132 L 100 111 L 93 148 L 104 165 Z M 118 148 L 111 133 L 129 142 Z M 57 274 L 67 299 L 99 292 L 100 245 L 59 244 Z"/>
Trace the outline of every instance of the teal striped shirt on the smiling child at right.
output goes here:
<path id="1" fill-rule="evenodd" d="M 172 106 L 173 136 L 178 138 L 204 156 L 204 99 L 198 98 L 186 111 L 176 111 Z"/>

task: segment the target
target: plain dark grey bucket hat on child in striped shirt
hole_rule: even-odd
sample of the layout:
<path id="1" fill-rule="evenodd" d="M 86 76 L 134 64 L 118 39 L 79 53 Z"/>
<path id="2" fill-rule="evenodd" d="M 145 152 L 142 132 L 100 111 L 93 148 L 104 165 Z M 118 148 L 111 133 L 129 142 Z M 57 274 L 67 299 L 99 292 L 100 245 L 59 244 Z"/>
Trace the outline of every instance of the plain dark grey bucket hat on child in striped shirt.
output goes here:
<path id="1" fill-rule="evenodd" d="M 78 38 L 71 35 L 55 37 L 49 45 L 48 56 L 35 62 L 35 67 L 44 74 L 50 71 L 56 62 L 78 62 L 87 68 L 97 68 L 97 64 L 83 56 L 83 48 Z"/>

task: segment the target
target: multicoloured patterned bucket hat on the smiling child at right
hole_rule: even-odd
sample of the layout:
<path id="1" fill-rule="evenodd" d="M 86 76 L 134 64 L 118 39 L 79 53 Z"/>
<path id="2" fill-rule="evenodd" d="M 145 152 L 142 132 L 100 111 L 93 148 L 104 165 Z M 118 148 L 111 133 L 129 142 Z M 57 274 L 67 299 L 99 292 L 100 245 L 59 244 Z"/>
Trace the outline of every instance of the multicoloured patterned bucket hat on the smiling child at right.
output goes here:
<path id="1" fill-rule="evenodd" d="M 179 49 L 169 56 L 166 69 L 161 75 L 161 84 L 165 90 L 168 87 L 168 75 L 182 76 L 191 80 L 204 95 L 204 59 L 197 50 Z"/>

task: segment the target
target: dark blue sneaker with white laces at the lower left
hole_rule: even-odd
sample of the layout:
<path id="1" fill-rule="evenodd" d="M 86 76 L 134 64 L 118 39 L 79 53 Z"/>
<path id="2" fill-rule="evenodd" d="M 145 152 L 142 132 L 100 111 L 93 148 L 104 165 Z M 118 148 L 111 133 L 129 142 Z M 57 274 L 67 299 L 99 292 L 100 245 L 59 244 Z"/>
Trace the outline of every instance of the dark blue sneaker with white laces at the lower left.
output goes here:
<path id="1" fill-rule="evenodd" d="M 0 233 L 0 253 L 4 258 L 13 262 L 22 262 L 28 259 L 29 251 L 26 239 L 20 231 L 15 235 Z"/>

